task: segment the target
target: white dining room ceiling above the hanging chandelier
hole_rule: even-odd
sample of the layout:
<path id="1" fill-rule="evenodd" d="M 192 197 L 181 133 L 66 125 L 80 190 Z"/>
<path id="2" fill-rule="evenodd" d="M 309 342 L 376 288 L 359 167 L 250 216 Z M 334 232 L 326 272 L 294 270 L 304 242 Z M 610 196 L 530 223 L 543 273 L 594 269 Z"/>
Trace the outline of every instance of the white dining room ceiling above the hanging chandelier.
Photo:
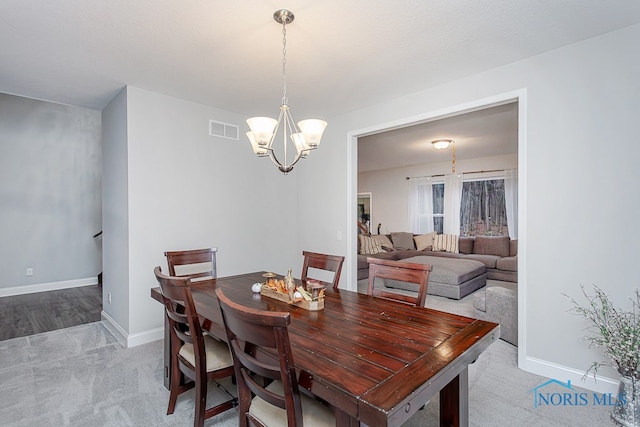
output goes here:
<path id="1" fill-rule="evenodd" d="M 332 116 L 640 22 L 637 0 L 2 0 L 0 92 L 102 109 L 125 86 Z M 462 154 L 462 153 L 461 153 Z"/>

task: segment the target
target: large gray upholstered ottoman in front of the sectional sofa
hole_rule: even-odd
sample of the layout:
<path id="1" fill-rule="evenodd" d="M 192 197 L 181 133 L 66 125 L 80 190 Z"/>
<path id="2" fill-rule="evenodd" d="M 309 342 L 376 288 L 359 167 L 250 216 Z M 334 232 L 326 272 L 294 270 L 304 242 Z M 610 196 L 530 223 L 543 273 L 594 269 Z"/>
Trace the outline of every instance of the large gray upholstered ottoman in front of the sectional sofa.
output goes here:
<path id="1" fill-rule="evenodd" d="M 483 263 L 471 259 L 415 256 L 402 262 L 431 264 L 427 294 L 460 299 L 482 288 L 487 283 L 487 273 Z M 418 291 L 418 285 L 397 280 L 385 280 L 388 288 Z"/>

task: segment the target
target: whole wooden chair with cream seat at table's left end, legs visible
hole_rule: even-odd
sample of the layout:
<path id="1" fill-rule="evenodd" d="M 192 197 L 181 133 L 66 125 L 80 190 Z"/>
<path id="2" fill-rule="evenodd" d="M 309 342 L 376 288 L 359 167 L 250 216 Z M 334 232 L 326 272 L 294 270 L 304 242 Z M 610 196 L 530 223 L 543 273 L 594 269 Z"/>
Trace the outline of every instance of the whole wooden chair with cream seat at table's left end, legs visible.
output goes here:
<path id="1" fill-rule="evenodd" d="M 167 415 L 173 414 L 178 395 L 195 387 L 193 425 L 201 427 L 205 419 L 238 405 L 238 399 L 231 396 L 231 399 L 206 409 L 209 381 L 233 376 L 233 358 L 226 343 L 202 333 L 189 287 L 191 279 L 166 276 L 159 266 L 154 273 L 162 290 L 171 334 L 171 387 Z M 184 384 L 180 384 L 181 372 L 188 379 Z"/>

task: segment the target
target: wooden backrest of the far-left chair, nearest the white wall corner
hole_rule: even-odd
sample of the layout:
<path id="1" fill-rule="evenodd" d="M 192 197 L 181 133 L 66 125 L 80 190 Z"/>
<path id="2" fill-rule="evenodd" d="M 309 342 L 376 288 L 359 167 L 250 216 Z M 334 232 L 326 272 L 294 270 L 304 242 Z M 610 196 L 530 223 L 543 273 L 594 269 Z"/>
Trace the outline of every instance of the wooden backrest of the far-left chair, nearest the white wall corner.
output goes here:
<path id="1" fill-rule="evenodd" d="M 216 278 L 216 252 L 218 248 L 168 251 L 169 276 L 191 279 Z"/>

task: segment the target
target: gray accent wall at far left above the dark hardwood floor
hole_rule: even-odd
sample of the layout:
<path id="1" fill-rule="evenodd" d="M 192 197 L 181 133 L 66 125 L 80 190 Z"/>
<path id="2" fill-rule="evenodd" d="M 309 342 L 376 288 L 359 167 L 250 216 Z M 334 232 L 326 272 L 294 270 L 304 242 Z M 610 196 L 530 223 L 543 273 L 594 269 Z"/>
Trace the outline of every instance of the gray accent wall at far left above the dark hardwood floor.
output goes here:
<path id="1" fill-rule="evenodd" d="M 5 294 L 96 282 L 102 269 L 101 239 L 93 237 L 102 227 L 100 122 L 99 111 L 0 94 Z"/>

